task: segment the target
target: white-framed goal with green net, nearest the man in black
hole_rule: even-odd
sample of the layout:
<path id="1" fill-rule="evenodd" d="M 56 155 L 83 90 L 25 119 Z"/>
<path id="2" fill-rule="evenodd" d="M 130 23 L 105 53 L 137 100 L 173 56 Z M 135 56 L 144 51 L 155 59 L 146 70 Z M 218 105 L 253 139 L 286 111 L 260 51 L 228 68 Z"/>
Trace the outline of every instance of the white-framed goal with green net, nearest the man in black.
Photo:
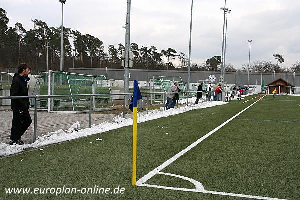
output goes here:
<path id="1" fill-rule="evenodd" d="M 104 75 L 92 76 L 65 71 L 40 72 L 37 76 L 40 95 L 78 95 L 78 94 L 111 94 Z M 38 99 L 38 109 L 48 112 L 87 112 L 89 96 L 53 97 Z M 110 95 L 93 96 L 92 110 L 104 111 L 114 109 Z"/>

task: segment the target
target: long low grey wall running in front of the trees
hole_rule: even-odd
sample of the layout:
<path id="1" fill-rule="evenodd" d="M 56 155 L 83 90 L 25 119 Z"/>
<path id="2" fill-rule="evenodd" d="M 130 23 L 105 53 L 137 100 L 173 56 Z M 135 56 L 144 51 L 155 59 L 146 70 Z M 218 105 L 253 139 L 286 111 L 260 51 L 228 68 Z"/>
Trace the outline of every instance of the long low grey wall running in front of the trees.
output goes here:
<path id="1" fill-rule="evenodd" d="M 71 73 L 80 73 L 87 75 L 106 75 L 107 79 L 123 80 L 124 69 L 104 69 L 104 68 L 71 68 Z M 190 82 L 197 82 L 198 80 L 208 79 L 209 75 L 214 74 L 218 82 L 220 72 L 209 72 L 209 71 L 191 71 Z M 153 75 L 161 76 L 180 76 L 184 82 L 187 82 L 187 71 L 165 71 L 165 70 L 141 70 L 141 69 L 130 69 L 129 80 L 149 81 Z M 282 78 L 286 80 L 286 73 L 276 73 L 275 79 Z M 263 80 L 266 83 L 273 81 L 272 73 L 263 73 Z M 261 73 L 250 73 L 249 85 L 261 84 Z M 228 84 L 248 84 L 248 73 L 247 72 L 225 72 L 225 82 Z M 288 74 L 288 82 L 292 84 L 292 74 Z M 300 86 L 300 74 L 295 75 L 295 86 Z"/>

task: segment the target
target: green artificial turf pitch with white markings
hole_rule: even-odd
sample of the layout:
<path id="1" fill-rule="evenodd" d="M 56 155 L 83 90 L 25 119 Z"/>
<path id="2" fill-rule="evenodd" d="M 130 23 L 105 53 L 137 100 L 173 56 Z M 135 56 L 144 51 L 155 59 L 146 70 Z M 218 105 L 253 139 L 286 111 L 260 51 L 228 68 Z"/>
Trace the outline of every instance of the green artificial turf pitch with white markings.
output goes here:
<path id="1" fill-rule="evenodd" d="M 137 179 L 258 100 L 254 95 L 138 124 Z M 245 103 L 242 103 L 249 100 Z M 265 96 L 161 172 L 205 190 L 300 198 L 300 97 Z M 168 133 L 168 134 L 166 134 Z M 95 139 L 101 138 L 98 142 Z M 92 141 L 93 143 L 89 143 Z M 210 193 L 131 186 L 132 126 L 0 159 L 0 199 L 216 199 Z M 194 189 L 156 174 L 146 184 Z M 5 194 L 5 187 L 125 188 L 124 194 Z"/>

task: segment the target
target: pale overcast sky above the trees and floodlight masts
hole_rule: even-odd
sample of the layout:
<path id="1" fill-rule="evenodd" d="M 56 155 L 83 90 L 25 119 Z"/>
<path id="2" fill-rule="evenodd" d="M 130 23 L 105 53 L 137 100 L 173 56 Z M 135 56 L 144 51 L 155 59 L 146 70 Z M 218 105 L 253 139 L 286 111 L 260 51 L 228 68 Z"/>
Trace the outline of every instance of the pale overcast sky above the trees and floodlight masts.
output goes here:
<path id="1" fill-rule="evenodd" d="M 10 19 L 26 30 L 31 19 L 49 27 L 61 25 L 59 0 L 0 0 Z M 222 53 L 224 0 L 193 0 L 191 61 L 202 64 Z M 226 0 L 228 14 L 226 64 L 241 68 L 250 60 L 276 63 L 273 54 L 285 59 L 283 67 L 300 61 L 299 0 Z M 91 34 L 109 44 L 125 43 L 127 0 L 66 0 L 64 26 Z M 131 0 L 130 42 L 173 48 L 188 57 L 191 0 Z M 175 64 L 178 61 L 175 61 Z"/>

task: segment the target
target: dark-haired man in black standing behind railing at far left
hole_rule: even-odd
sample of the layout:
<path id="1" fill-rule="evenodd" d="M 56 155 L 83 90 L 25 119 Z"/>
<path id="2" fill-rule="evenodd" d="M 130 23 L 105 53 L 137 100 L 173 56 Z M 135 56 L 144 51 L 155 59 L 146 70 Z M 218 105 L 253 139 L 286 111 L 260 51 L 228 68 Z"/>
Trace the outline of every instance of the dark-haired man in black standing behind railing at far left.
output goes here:
<path id="1" fill-rule="evenodd" d="M 14 74 L 11 87 L 10 96 L 28 96 L 27 82 L 30 80 L 30 66 L 27 63 L 21 63 L 18 66 L 18 71 Z M 10 133 L 10 145 L 19 144 L 24 142 L 21 136 L 26 132 L 32 123 L 29 114 L 30 102 L 28 98 L 11 99 L 11 109 L 13 113 L 12 126 Z"/>

